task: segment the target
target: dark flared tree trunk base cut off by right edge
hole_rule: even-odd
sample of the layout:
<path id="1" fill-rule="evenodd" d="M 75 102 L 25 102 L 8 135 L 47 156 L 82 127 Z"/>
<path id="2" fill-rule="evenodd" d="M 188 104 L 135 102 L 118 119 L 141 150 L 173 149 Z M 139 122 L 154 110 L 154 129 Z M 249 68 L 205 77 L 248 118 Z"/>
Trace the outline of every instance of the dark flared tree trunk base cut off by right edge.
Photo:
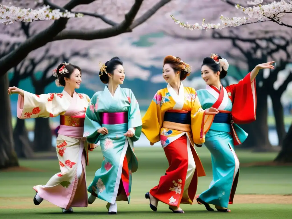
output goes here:
<path id="1" fill-rule="evenodd" d="M 292 124 L 283 140 L 283 146 L 274 161 L 292 163 Z"/>

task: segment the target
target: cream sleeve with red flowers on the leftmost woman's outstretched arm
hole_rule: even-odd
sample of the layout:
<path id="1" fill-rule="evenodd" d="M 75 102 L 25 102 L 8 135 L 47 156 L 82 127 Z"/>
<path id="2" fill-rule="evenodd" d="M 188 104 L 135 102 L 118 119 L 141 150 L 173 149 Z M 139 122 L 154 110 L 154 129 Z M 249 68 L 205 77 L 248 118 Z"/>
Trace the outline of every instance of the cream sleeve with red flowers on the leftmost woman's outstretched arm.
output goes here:
<path id="1" fill-rule="evenodd" d="M 69 102 L 64 100 L 62 93 L 48 93 L 36 95 L 24 91 L 23 97 L 19 94 L 17 101 L 17 117 L 19 119 L 37 117 L 56 117 L 66 112 Z"/>

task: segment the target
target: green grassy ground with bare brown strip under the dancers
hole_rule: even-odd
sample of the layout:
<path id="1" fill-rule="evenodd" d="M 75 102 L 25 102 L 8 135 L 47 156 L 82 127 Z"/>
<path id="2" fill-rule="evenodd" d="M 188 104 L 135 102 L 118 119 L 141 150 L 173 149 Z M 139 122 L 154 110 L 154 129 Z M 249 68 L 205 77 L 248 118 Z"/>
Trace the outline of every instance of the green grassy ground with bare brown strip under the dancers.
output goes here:
<path id="1" fill-rule="evenodd" d="M 211 160 L 206 148 L 197 149 L 207 176 L 199 178 L 197 193 L 206 190 L 212 178 Z M 275 153 L 251 153 L 237 151 L 241 161 L 239 184 L 235 204 L 230 205 L 231 213 L 207 212 L 203 206 L 182 205 L 185 214 L 175 215 L 168 210 L 167 205 L 159 204 L 158 212 L 152 212 L 144 194 L 157 185 L 159 177 L 164 175 L 167 160 L 161 148 L 135 148 L 139 159 L 139 169 L 133 173 L 133 188 L 131 204 L 118 203 L 118 215 L 107 215 L 105 202 L 97 200 L 88 208 L 74 208 L 74 218 L 291 218 L 292 214 L 292 167 L 291 166 L 250 166 L 257 161 L 270 161 Z M 96 169 L 100 167 L 102 155 L 100 149 L 90 153 L 86 169 L 87 183 L 93 179 Z M 59 172 L 57 159 L 21 160 L 20 165 L 30 171 L 0 172 L 0 218 L 28 219 L 70 218 L 73 215 L 61 214 L 61 209 L 47 201 L 34 206 L 33 185 L 46 184 L 48 179 Z M 34 169 L 33 171 L 31 169 Z M 211 215 L 210 215 L 211 214 Z M 290 215 L 290 216 L 289 216 Z"/>

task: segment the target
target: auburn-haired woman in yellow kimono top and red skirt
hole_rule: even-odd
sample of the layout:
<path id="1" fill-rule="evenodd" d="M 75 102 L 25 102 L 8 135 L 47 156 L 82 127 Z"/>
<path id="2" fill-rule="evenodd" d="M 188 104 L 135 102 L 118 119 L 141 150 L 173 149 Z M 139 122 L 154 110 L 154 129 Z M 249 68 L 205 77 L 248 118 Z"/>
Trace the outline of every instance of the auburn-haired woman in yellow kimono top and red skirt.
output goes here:
<path id="1" fill-rule="evenodd" d="M 194 88 L 183 86 L 181 81 L 190 72 L 190 66 L 180 58 L 166 56 L 162 76 L 168 85 L 157 91 L 142 119 L 142 132 L 151 145 L 161 142 L 169 163 L 159 184 L 145 194 L 153 211 L 161 201 L 173 213 L 184 213 L 180 204 L 193 203 L 198 176 L 206 175 L 194 144 L 200 147 L 204 143 L 212 122 L 206 118 L 217 111 L 203 110 Z"/>

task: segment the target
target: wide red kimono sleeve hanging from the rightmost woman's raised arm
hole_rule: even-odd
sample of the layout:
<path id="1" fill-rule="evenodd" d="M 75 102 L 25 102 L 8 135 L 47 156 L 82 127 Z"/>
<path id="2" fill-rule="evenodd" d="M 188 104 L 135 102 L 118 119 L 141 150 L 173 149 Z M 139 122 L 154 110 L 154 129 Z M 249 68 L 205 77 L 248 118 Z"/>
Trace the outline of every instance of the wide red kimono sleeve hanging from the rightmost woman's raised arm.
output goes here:
<path id="1" fill-rule="evenodd" d="M 238 84 L 225 87 L 232 101 L 232 117 L 236 124 L 251 123 L 256 120 L 256 79 L 251 81 L 248 73 Z"/>

